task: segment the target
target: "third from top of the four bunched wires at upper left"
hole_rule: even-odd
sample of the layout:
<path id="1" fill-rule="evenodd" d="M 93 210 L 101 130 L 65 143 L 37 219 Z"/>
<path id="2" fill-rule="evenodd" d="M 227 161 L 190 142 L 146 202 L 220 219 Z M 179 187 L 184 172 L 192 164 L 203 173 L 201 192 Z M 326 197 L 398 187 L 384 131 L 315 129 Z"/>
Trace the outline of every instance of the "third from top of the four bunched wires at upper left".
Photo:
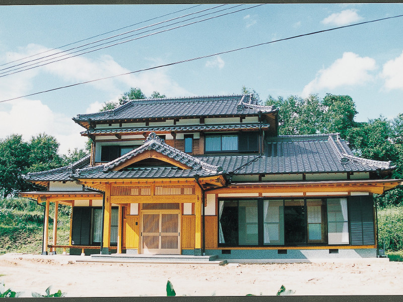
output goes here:
<path id="1" fill-rule="evenodd" d="M 29 64 L 29 65 L 25 65 L 25 66 L 17 67 L 17 68 L 15 68 L 15 69 L 3 71 L 3 72 L 0 72 L 0 74 L 4 74 L 4 75 L 0 75 L 0 78 L 1 78 L 1 77 L 5 77 L 6 75 L 9 75 L 9 74 L 14 74 L 14 73 L 16 73 L 16 72 L 11 72 L 11 71 L 19 70 L 19 69 L 26 68 L 26 67 L 28 67 L 28 66 L 33 66 L 33 65 L 36 65 L 36 66 L 34 66 L 34 67 L 32 67 L 32 68 L 39 67 L 39 66 L 43 66 L 43 65 L 46 65 L 46 64 L 40 64 L 40 65 L 37 65 L 37 64 L 42 63 L 42 62 L 46 62 L 46 61 L 49 61 L 49 60 L 53 60 L 53 59 L 56 59 L 56 58 L 60 58 L 60 57 L 66 56 L 66 55 L 70 55 L 70 54 L 74 54 L 74 53 L 77 53 L 77 52 L 81 52 L 81 51 L 84 51 L 84 50 L 87 50 L 87 49 L 99 47 L 99 46 L 101 46 L 101 45 L 105 45 L 105 44 L 113 43 L 113 42 L 116 42 L 116 41 L 119 41 L 119 40 L 127 39 L 127 38 L 129 38 L 129 37 L 138 36 L 138 35 L 141 35 L 141 34 L 144 34 L 144 33 L 150 32 L 150 31 L 153 31 L 153 30 L 161 29 L 161 28 L 164 28 L 164 27 L 167 27 L 167 26 L 172 26 L 172 25 L 175 25 L 175 24 L 178 24 L 178 23 L 182 23 L 182 22 L 186 22 L 186 21 L 189 21 L 189 20 L 192 20 L 192 19 L 201 18 L 201 17 L 207 16 L 207 15 L 216 14 L 216 13 L 219 13 L 219 12 L 222 12 L 222 11 L 230 10 L 230 9 L 233 9 L 233 8 L 236 8 L 236 7 L 239 7 L 239 6 L 243 6 L 243 5 L 244 5 L 244 4 L 241 4 L 241 5 L 237 5 L 237 6 L 231 7 L 231 8 L 219 10 L 219 11 L 217 11 L 217 12 L 212 12 L 212 13 L 208 13 L 208 14 L 204 14 L 204 15 L 192 17 L 192 18 L 189 18 L 189 19 L 186 19 L 186 20 L 182 20 L 182 21 L 178 21 L 178 22 L 169 24 L 169 25 L 164 25 L 164 26 L 160 26 L 160 27 L 157 27 L 157 28 L 154 28 L 154 29 L 146 30 L 146 31 L 141 32 L 141 33 L 129 35 L 129 36 L 126 36 L 126 37 L 123 37 L 123 38 L 119 38 L 119 39 L 115 39 L 115 40 L 112 40 L 112 41 L 104 42 L 104 43 L 101 43 L 101 44 L 98 44 L 98 45 L 94 45 L 94 46 L 87 47 L 87 48 L 84 48 L 84 49 L 76 50 L 76 51 L 73 51 L 73 52 L 70 52 L 70 53 L 65 53 L 65 54 L 62 54 L 62 55 L 59 55 L 59 56 L 51 57 L 51 58 L 48 58 L 48 59 L 45 59 L 45 60 L 42 60 L 42 61 L 39 61 L 39 62 L 35 62 L 35 63 Z M 221 5 L 221 6 L 222 6 L 222 5 Z M 215 8 L 217 8 L 217 7 L 215 7 Z M 214 8 L 213 8 L 213 9 L 214 9 Z M 209 9 L 209 10 L 210 10 L 210 9 Z M 200 12 L 203 12 L 203 11 L 200 11 Z M 200 12 L 197 12 L 197 13 L 200 13 Z M 196 14 L 196 13 L 193 13 L 193 14 Z M 192 14 L 190 14 L 190 15 L 192 15 Z M 188 16 L 188 15 L 187 15 L 187 16 Z M 223 16 L 223 15 L 221 15 L 221 16 Z M 217 17 L 221 17 L 221 16 L 217 16 Z M 182 16 L 182 17 L 184 17 L 184 16 Z M 182 18 L 182 17 L 178 17 L 178 18 Z M 177 18 L 175 18 L 175 19 L 177 19 Z M 175 19 L 172 19 L 172 20 L 175 20 Z M 168 21 L 172 21 L 172 20 L 168 20 Z M 205 20 L 202 20 L 202 21 L 206 21 L 206 20 L 208 20 L 208 19 L 205 19 Z M 164 22 L 168 22 L 168 21 L 164 21 Z M 164 22 L 161 22 L 161 23 L 164 23 Z M 160 23 L 157 23 L 157 24 L 160 24 Z M 190 23 L 190 24 L 192 24 L 192 23 Z M 188 25 L 190 25 L 190 24 L 188 24 Z M 154 25 L 150 25 L 150 26 L 154 26 Z M 145 28 L 150 27 L 150 26 L 146 26 L 146 27 L 143 27 L 143 28 L 140 28 L 140 29 L 137 29 L 137 30 L 133 30 L 133 31 L 130 31 L 130 32 L 134 32 L 134 31 L 138 31 L 138 30 L 141 30 L 141 29 L 145 29 Z M 176 27 L 176 28 L 177 28 L 177 27 Z M 173 29 L 176 29 L 176 28 L 173 28 Z M 130 33 L 130 32 L 128 32 L 128 33 Z M 157 33 L 161 33 L 161 32 L 164 32 L 164 31 L 160 31 L 160 32 L 157 32 Z M 127 33 L 124 33 L 124 34 L 127 34 Z M 122 34 L 120 34 L 120 35 L 122 35 Z M 120 36 L 120 35 L 117 35 L 117 36 Z M 114 37 L 117 37 L 117 36 L 114 36 Z M 148 36 L 148 35 L 142 36 L 142 37 L 140 37 L 140 38 L 144 38 L 144 37 L 147 37 L 147 36 Z M 69 50 L 72 50 L 72 49 L 76 49 L 76 48 L 81 48 L 81 47 L 84 47 L 84 46 L 86 46 L 86 45 L 90 45 L 90 44 L 93 44 L 93 43 L 97 43 L 97 42 L 101 42 L 101 41 L 104 41 L 104 40 L 108 40 L 108 39 L 110 39 L 110 38 L 113 38 L 113 37 L 109 37 L 109 38 L 106 38 L 106 39 L 103 39 L 103 40 L 99 40 L 99 41 L 96 41 L 96 42 L 88 43 L 88 44 L 85 44 L 85 45 L 82 45 L 82 46 L 79 46 L 79 47 L 74 47 L 74 48 L 71 48 L 71 49 L 68 49 L 68 50 L 65 50 L 65 51 L 60 51 L 60 52 L 57 52 L 57 53 L 54 53 L 54 54 L 51 54 L 51 55 L 48 55 L 48 56 L 45 56 L 45 57 L 54 56 L 54 55 L 59 54 L 59 53 L 63 53 L 63 52 L 66 52 L 66 51 L 69 51 Z M 137 38 L 137 39 L 140 39 L 140 38 Z M 131 40 L 123 41 L 123 43 L 130 42 L 130 41 L 137 40 L 137 39 L 131 39 Z M 116 44 L 113 44 L 113 45 L 110 45 L 110 46 L 115 46 L 115 45 L 118 45 L 118 44 L 121 44 L 121 43 L 116 43 Z M 108 47 L 109 47 L 109 46 L 108 46 Z M 100 50 L 100 49 L 103 49 L 103 48 L 106 48 L 106 47 L 101 47 L 101 48 L 95 49 L 95 50 L 93 50 L 93 51 Z M 88 52 L 92 52 L 92 51 L 82 52 L 82 53 L 80 53 L 80 54 L 78 54 L 78 55 L 83 55 L 83 54 L 86 54 L 86 53 L 88 53 Z M 72 57 L 75 57 L 75 56 L 77 56 L 77 55 L 70 56 L 70 57 L 66 57 L 66 58 L 64 58 L 64 59 L 69 59 L 69 58 L 72 58 Z M 45 58 L 45 57 L 41 57 L 41 58 Z M 35 60 L 39 60 L 39 59 L 41 59 L 41 58 L 38 58 L 38 59 L 35 59 Z M 32 60 L 32 61 L 35 61 L 35 60 Z M 58 62 L 58 61 L 60 61 L 60 60 L 54 60 L 54 61 L 51 61 L 51 62 L 49 62 L 49 63 L 47 63 L 47 64 L 50 64 L 50 63 L 53 63 L 53 62 Z M 23 64 L 26 64 L 26 63 L 28 63 L 28 62 L 29 62 L 29 61 L 24 62 L 24 63 L 21 63 L 21 64 L 18 64 L 18 65 L 23 65 Z M 18 66 L 18 65 L 15 65 L 15 66 Z M 8 69 L 8 68 L 12 68 L 12 67 L 14 67 L 14 66 L 7 67 L 7 68 L 0 69 L 0 70 L 5 70 L 5 69 Z M 26 69 L 22 69 L 22 70 L 20 70 L 20 71 L 24 71 L 24 70 L 28 70 L 28 69 L 32 69 L 32 68 L 26 68 Z M 7 74 L 5 74 L 5 73 L 7 73 Z"/>

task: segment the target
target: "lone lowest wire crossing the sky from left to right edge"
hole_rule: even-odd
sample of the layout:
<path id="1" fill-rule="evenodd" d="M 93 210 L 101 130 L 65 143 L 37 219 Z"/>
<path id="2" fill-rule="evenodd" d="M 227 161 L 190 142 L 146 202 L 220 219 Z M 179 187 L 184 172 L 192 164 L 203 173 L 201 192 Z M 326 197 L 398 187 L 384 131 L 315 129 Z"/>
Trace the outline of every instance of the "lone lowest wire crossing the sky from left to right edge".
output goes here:
<path id="1" fill-rule="evenodd" d="M 144 69 L 139 69 L 139 70 L 136 70 L 136 71 L 130 71 L 130 72 L 126 72 L 126 73 L 115 74 L 115 75 L 111 75 L 110 77 L 105 77 L 105 78 L 90 80 L 90 81 L 86 81 L 86 82 L 76 83 L 76 84 L 72 84 L 72 85 L 57 87 L 57 88 L 53 88 L 53 89 L 49 89 L 49 90 L 44 90 L 44 91 L 32 93 L 32 94 L 29 94 L 29 95 L 25 95 L 25 96 L 13 98 L 13 99 L 3 100 L 3 101 L 0 101 L 0 103 L 12 101 L 12 100 L 17 100 L 17 99 L 21 99 L 21 98 L 25 98 L 25 97 L 30 97 L 30 96 L 34 96 L 34 95 L 37 95 L 37 94 L 41 94 L 41 93 L 45 93 L 45 92 L 50 92 L 50 91 L 55 91 L 55 90 L 59 90 L 59 89 L 63 89 L 63 88 L 69 88 L 69 87 L 78 86 L 78 85 L 83 85 L 83 84 L 88 84 L 88 83 L 92 83 L 92 82 L 96 82 L 96 81 L 112 79 L 112 78 L 120 77 L 121 75 L 127 75 L 127 74 L 131 74 L 131 73 L 138 73 L 138 72 L 141 72 L 141 71 L 152 70 L 152 69 L 157 69 L 157 68 L 161 68 L 161 67 L 176 65 L 176 64 L 180 64 L 180 63 L 184 63 L 184 62 L 190 62 L 190 61 L 194 61 L 194 60 L 199 60 L 199 59 L 203 59 L 203 58 L 208 58 L 208 57 L 212 57 L 212 56 L 219 55 L 219 54 L 230 53 L 230 52 L 239 51 L 239 50 L 243 50 L 243 49 L 248 49 L 248 48 L 252 48 L 252 47 L 257 47 L 257 46 L 261 46 L 261 45 L 276 43 L 276 42 L 285 41 L 285 40 L 291 40 L 291 39 L 300 38 L 300 37 L 304 37 L 304 36 L 310 36 L 310 35 L 315 35 L 315 34 L 319 34 L 319 33 L 323 33 L 323 32 L 328 32 L 328 31 L 333 31 L 333 30 L 337 30 L 337 29 L 342 29 L 342 28 L 347 28 L 347 27 L 352 27 L 352 26 L 357 26 L 357 25 L 362 25 L 362 24 L 367 24 L 367 23 L 372 23 L 372 22 L 378 22 L 378 21 L 383 21 L 383 20 L 392 19 L 392 18 L 399 18 L 399 17 L 403 17 L 403 15 L 398 15 L 398 16 L 393 16 L 393 17 L 387 17 L 387 18 L 382 18 L 382 19 L 377 19 L 377 20 L 371 20 L 371 21 L 366 21 L 366 22 L 360 22 L 360 23 L 355 23 L 355 24 L 345 25 L 345 26 L 340 26 L 340 27 L 334 27 L 334 28 L 330 28 L 330 29 L 325 29 L 325 30 L 320 30 L 320 31 L 316 31 L 316 32 L 307 33 L 307 34 L 292 36 L 292 37 L 288 37 L 288 38 L 284 38 L 284 39 L 279 39 L 279 40 L 275 40 L 275 41 L 263 42 L 263 43 L 254 44 L 254 45 L 250 45 L 250 46 L 245 46 L 245 47 L 240 47 L 240 48 L 236 48 L 236 49 L 231 49 L 231 50 L 226 50 L 226 51 L 222 51 L 222 52 L 217 52 L 217 53 L 214 53 L 214 54 L 209 54 L 209 55 L 204 55 L 204 56 L 195 57 L 195 58 L 191 58 L 191 59 L 176 61 L 176 62 L 173 62 L 173 63 L 163 64 L 163 65 L 154 66 L 154 67 L 149 67 L 149 68 L 144 68 Z"/>

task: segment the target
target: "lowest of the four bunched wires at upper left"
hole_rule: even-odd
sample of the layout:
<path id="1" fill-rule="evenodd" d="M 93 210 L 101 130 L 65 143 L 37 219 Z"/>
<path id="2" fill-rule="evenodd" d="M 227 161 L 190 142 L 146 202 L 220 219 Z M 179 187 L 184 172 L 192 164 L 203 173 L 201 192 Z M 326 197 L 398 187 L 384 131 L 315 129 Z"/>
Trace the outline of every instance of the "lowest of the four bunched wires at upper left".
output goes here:
<path id="1" fill-rule="evenodd" d="M 243 4 L 242 4 L 242 5 L 243 5 Z M 70 57 L 66 57 L 66 58 L 54 60 L 54 61 L 47 62 L 47 63 L 44 63 L 44 64 L 36 65 L 36 64 L 39 63 L 39 62 L 37 62 L 37 63 L 30 64 L 30 65 L 27 65 L 27 66 L 19 67 L 19 68 L 16 68 L 16 69 L 12 69 L 12 70 L 5 71 L 5 72 L 0 73 L 0 74 L 3 74 L 3 75 L 0 75 L 0 78 L 6 77 L 7 75 L 11 75 L 11 74 L 14 74 L 14 73 L 18 73 L 18 72 L 22 72 L 22 71 L 25 71 L 25 70 L 33 69 L 33 68 L 36 68 L 36 67 L 40 67 L 40 66 L 44 66 L 44 65 L 47 65 L 47 64 L 51 64 L 51 63 L 54 63 L 54 62 L 62 61 L 62 60 L 65 60 L 65 59 L 70 59 L 70 58 L 73 58 L 73 57 L 76 57 L 76 56 L 79 56 L 79 55 L 83 55 L 83 54 L 86 54 L 86 53 L 94 52 L 94 51 L 97 51 L 97 50 L 100 50 L 100 49 L 105 49 L 105 48 L 108 48 L 108 47 L 112 47 L 112 46 L 116 46 L 116 45 L 119 45 L 119 44 L 131 42 L 131 41 L 138 40 L 138 39 L 142 39 L 142 38 L 149 37 L 149 36 L 152 36 L 152 35 L 160 34 L 160 33 L 163 33 L 163 32 L 166 32 L 166 31 L 170 31 L 170 30 L 173 30 L 173 29 L 177 29 L 177 28 L 181 28 L 181 27 L 184 27 L 184 26 L 192 25 L 192 24 L 195 24 L 195 23 L 204 22 L 204 21 L 207 21 L 207 20 L 210 20 L 210 19 L 215 19 L 215 18 L 218 18 L 218 17 L 222 17 L 222 16 L 234 14 L 234 13 L 237 13 L 237 12 L 249 10 L 249 9 L 252 9 L 252 8 L 255 8 L 255 7 L 258 7 L 258 6 L 262 6 L 262 5 L 264 5 L 264 4 L 259 4 L 259 5 L 250 7 L 250 8 L 241 9 L 241 10 L 238 10 L 238 11 L 234 11 L 234 12 L 230 12 L 230 13 L 226 13 L 226 14 L 222 14 L 222 15 L 218 15 L 218 16 L 206 18 L 206 19 L 203 19 L 203 20 L 191 22 L 191 23 L 188 23 L 188 24 L 176 26 L 176 27 L 173 27 L 173 28 L 169 28 L 169 29 L 166 29 L 166 30 L 159 31 L 159 32 L 154 32 L 154 33 L 151 33 L 151 34 L 147 34 L 147 35 L 144 35 L 144 36 L 141 36 L 141 37 L 138 37 L 138 38 L 129 39 L 129 40 L 122 41 L 122 42 L 118 42 L 118 43 L 111 44 L 111 45 L 108 45 L 108 46 L 104 46 L 104 47 L 100 47 L 100 48 L 97 48 L 97 49 L 85 51 L 85 52 L 82 52 L 82 53 L 79 53 L 79 54 L 76 54 L 76 55 L 73 55 L 73 56 L 70 56 Z M 238 6 L 241 6 L 241 5 L 238 5 Z M 235 7 L 238 7 L 238 6 L 235 6 Z M 233 8 L 235 8 L 235 7 L 233 7 Z M 230 9 L 231 9 L 231 8 L 230 8 Z M 225 11 L 225 10 L 228 10 L 228 9 L 220 10 L 220 11 L 218 11 L 218 12 L 222 12 L 222 11 Z M 218 12 L 215 12 L 215 13 L 218 13 Z M 214 14 L 214 13 L 205 14 L 204 16 L 206 16 L 206 15 L 211 15 L 211 14 Z M 191 20 L 191 19 L 195 19 L 195 18 L 199 18 L 199 17 L 201 17 L 201 16 L 193 17 L 193 18 L 190 18 L 190 19 L 188 19 L 188 20 L 176 22 L 176 23 L 173 23 L 173 24 L 177 24 L 177 23 L 189 21 L 189 20 Z M 170 24 L 170 25 L 173 25 L 173 24 Z M 167 26 L 170 26 L 170 25 L 162 26 L 162 27 L 159 27 L 159 28 L 167 27 Z M 159 29 L 159 28 L 157 28 L 157 29 Z M 146 32 L 149 32 L 149 31 L 151 31 L 151 30 L 145 31 L 145 32 L 143 32 L 143 33 L 146 33 Z M 140 34 L 142 34 L 142 33 L 140 33 Z M 137 36 L 137 35 L 138 35 L 138 34 L 131 35 L 131 36 Z M 98 46 L 100 46 L 100 45 L 104 45 L 104 44 L 108 44 L 108 43 L 111 43 L 111 42 L 119 41 L 119 40 L 122 40 L 122 39 L 125 39 L 125 38 L 128 38 L 128 37 L 131 37 L 131 36 L 127 36 L 127 37 L 124 37 L 124 38 L 119 38 L 119 39 L 116 39 L 116 40 L 114 40 L 114 41 L 109 41 L 109 42 L 106 42 L 106 43 L 101 43 L 101 44 L 99 44 L 99 45 L 91 46 L 91 47 L 88 47 L 88 48 L 85 48 L 85 49 L 91 49 L 91 48 L 94 48 L 94 47 L 98 47 Z M 71 53 L 69 53 L 69 54 L 73 54 L 73 53 L 76 53 L 76 52 L 80 52 L 80 51 L 83 51 L 83 50 L 85 50 L 85 49 L 78 50 L 78 51 L 74 51 L 74 52 L 71 52 Z M 57 57 L 54 57 L 54 58 L 51 58 L 51 59 L 55 59 L 55 58 L 62 57 L 62 56 L 65 56 L 65 55 L 67 55 L 67 54 L 60 55 L 60 56 L 57 56 Z M 45 61 L 48 61 L 48 60 L 49 60 L 49 59 L 46 59 L 46 60 L 43 60 L 43 61 L 41 61 L 41 62 L 45 62 Z M 29 68 L 25 68 L 25 67 L 28 67 L 28 66 L 31 66 L 31 65 L 36 65 L 36 66 L 29 67 Z M 21 69 L 21 68 L 25 68 L 25 69 Z M 21 69 L 21 70 L 18 70 L 18 69 Z M 10 71 L 14 71 L 14 70 L 18 70 L 18 71 L 10 72 Z M 6 74 L 4 74 L 4 73 L 6 73 Z"/>

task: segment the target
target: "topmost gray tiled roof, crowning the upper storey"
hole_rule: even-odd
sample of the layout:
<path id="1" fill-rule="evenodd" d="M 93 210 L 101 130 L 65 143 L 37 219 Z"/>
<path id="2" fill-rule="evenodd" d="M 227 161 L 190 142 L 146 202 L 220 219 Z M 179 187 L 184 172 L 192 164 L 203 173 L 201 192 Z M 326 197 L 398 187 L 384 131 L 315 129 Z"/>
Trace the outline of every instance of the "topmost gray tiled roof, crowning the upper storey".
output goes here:
<path id="1" fill-rule="evenodd" d="M 79 114 L 76 122 L 163 118 L 181 116 L 219 116 L 277 112 L 274 106 L 257 105 L 253 95 L 188 97 L 176 99 L 132 100 L 112 109 L 92 114 Z"/>

